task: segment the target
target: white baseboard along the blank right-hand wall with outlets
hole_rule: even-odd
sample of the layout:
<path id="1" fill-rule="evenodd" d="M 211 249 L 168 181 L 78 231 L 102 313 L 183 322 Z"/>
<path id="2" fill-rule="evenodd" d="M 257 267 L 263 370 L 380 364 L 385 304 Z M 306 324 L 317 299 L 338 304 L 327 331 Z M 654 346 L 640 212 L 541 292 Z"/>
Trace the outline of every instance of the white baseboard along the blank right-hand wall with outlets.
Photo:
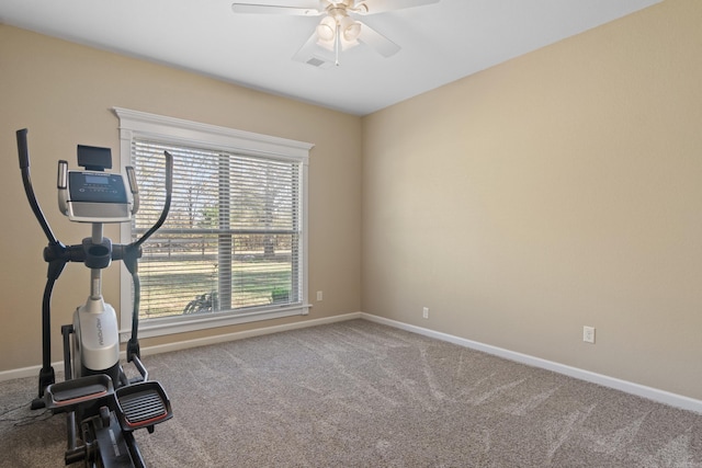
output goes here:
<path id="1" fill-rule="evenodd" d="M 555 363 L 553 361 L 542 359 L 540 357 L 517 353 L 513 351 L 505 350 L 502 347 L 491 346 L 489 344 L 479 343 L 473 340 L 466 340 L 464 338 L 458 338 L 448 333 L 429 330 L 422 327 L 416 327 L 416 326 L 399 322 L 396 320 L 373 316 L 371 313 L 361 312 L 361 318 L 372 322 L 395 327 L 400 330 L 422 334 L 424 336 L 434 338 L 437 340 L 442 340 L 442 341 L 454 343 L 461 346 L 469 347 L 472 350 L 482 351 L 487 354 L 492 354 L 495 356 L 499 356 L 506 359 L 526 364 L 529 366 L 553 370 L 555 373 L 564 374 L 580 380 L 598 384 L 603 387 L 613 388 L 626 393 L 636 395 L 637 397 L 647 398 L 649 400 L 657 401 L 659 403 L 665 403 L 671 407 L 681 408 L 683 410 L 702 413 L 702 401 L 695 400 L 694 398 L 671 393 L 669 391 L 659 390 L 653 387 L 646 387 L 644 385 L 634 384 L 627 380 L 609 377 L 609 376 L 592 373 L 589 370 L 584 370 L 577 367 L 567 366 L 565 364 Z"/>

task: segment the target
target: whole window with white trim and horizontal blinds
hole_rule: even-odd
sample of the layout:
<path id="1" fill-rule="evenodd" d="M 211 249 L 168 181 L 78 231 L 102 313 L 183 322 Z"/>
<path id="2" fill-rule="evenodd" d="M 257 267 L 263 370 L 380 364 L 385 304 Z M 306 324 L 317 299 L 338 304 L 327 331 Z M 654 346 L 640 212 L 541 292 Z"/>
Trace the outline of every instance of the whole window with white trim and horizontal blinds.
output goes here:
<path id="1" fill-rule="evenodd" d="M 121 160 L 134 165 L 139 210 L 122 243 L 158 219 L 165 158 L 173 196 L 163 226 L 143 246 L 139 334 L 199 330 L 305 315 L 306 178 L 312 145 L 124 109 Z M 121 323 L 132 317 L 123 269 Z"/>

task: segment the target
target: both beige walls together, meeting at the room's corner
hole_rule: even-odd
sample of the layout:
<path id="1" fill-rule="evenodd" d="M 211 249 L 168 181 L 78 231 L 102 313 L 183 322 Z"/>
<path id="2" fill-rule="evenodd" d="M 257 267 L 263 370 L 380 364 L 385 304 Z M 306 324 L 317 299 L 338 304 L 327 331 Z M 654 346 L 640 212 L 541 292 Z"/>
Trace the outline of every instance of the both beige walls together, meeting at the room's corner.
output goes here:
<path id="1" fill-rule="evenodd" d="M 316 145 L 310 319 L 364 310 L 702 399 L 700 24 L 702 3 L 668 0 L 363 119 L 0 25 L 0 372 L 41 356 L 45 240 L 14 130 L 72 243 L 56 160 L 117 148 L 122 106 Z M 86 292 L 69 265 L 55 359 Z"/>

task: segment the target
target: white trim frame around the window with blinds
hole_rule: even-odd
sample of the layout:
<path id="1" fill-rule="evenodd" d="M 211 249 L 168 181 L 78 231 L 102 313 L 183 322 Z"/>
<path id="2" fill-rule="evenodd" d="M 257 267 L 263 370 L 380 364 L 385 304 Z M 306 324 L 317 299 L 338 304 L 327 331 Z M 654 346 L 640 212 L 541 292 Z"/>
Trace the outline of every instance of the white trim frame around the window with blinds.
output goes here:
<path id="1" fill-rule="evenodd" d="M 120 161 L 124 171 L 132 161 L 132 140 L 134 138 L 150 139 L 169 144 L 206 146 L 212 149 L 246 153 L 251 156 L 273 157 L 302 164 L 302 305 L 290 307 L 261 306 L 246 312 L 219 312 L 203 316 L 171 316 L 154 319 L 141 319 L 139 336 L 150 338 L 173 333 L 205 330 L 259 320 L 270 320 L 309 313 L 308 300 L 308 164 L 309 151 L 314 144 L 296 141 L 269 135 L 254 134 L 216 125 L 202 124 L 182 118 L 149 114 L 122 107 L 112 109 L 120 119 Z M 121 242 L 131 242 L 132 225 L 123 222 L 120 228 Z M 131 336 L 132 323 L 132 276 L 126 269 L 120 273 L 120 338 L 125 342 Z"/>

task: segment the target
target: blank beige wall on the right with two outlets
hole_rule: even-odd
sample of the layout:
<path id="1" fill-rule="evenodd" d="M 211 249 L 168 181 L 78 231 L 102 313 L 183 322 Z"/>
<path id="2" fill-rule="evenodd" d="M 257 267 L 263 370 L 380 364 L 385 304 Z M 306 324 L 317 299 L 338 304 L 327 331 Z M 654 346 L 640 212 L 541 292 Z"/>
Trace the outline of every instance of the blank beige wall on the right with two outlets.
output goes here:
<path id="1" fill-rule="evenodd" d="M 702 399 L 700 25 L 668 0 L 364 117 L 363 310 Z"/>

